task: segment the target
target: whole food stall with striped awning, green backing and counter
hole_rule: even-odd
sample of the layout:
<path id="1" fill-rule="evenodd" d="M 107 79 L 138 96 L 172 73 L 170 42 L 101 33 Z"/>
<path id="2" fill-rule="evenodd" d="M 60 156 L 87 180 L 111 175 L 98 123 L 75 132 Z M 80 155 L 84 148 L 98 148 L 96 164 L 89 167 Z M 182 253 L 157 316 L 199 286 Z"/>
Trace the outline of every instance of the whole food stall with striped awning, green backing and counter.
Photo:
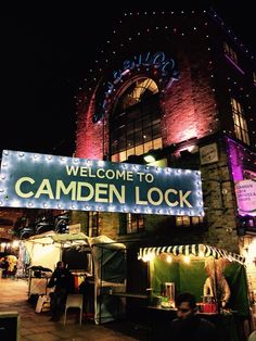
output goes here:
<path id="1" fill-rule="evenodd" d="M 226 340 L 243 340 L 249 330 L 249 302 L 244 258 L 206 244 L 141 248 L 148 262 L 151 299 L 148 306 L 152 340 L 161 340 L 176 317 L 175 299 L 181 292 L 195 295 L 199 314 L 212 320 Z M 209 266 L 210 265 L 210 266 Z M 212 293 L 206 294 L 212 269 Z M 218 295 L 218 273 L 228 286 L 228 302 Z"/>

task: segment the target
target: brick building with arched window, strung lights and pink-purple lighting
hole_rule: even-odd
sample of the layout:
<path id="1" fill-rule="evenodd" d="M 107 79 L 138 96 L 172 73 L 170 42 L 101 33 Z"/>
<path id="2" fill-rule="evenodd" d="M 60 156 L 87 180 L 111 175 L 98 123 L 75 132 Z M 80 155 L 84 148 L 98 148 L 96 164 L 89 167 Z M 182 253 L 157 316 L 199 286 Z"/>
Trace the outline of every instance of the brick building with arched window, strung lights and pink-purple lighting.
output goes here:
<path id="1" fill-rule="evenodd" d="M 199 169 L 205 215 L 73 219 L 127 243 L 241 253 L 256 289 L 255 92 L 254 56 L 213 10 L 125 14 L 77 96 L 76 156 Z"/>

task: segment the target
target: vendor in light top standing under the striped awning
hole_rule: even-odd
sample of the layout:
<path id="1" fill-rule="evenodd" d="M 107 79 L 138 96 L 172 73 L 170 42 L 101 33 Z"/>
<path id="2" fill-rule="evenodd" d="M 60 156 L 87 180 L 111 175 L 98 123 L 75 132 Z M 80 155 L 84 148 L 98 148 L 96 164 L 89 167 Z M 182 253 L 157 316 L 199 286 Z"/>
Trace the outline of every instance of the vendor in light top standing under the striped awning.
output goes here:
<path id="1" fill-rule="evenodd" d="M 230 299 L 230 288 L 223 276 L 223 265 L 216 261 L 210 260 L 205 263 L 205 271 L 207 278 L 204 283 L 204 296 L 212 296 L 217 304 L 222 308 L 227 307 Z"/>

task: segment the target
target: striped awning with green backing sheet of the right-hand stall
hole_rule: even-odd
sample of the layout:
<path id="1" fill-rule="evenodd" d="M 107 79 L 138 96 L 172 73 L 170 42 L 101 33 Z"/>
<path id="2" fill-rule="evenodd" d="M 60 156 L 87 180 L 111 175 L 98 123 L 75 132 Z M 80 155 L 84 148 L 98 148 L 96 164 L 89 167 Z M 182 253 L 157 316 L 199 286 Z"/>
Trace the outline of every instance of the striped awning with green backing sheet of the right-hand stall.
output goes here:
<path id="1" fill-rule="evenodd" d="M 177 256 L 176 262 L 169 263 L 168 255 Z M 192 262 L 179 262 L 180 255 L 190 256 Z M 206 244 L 187 244 L 140 248 L 138 258 L 150 261 L 150 281 L 153 292 L 161 294 L 163 283 L 172 282 L 175 292 L 190 291 L 196 296 L 197 302 L 202 301 L 204 285 L 209 276 L 206 264 L 214 261 L 214 283 L 217 285 L 218 268 L 225 275 L 231 291 L 230 307 L 241 316 L 248 316 L 247 279 L 243 256 Z"/>

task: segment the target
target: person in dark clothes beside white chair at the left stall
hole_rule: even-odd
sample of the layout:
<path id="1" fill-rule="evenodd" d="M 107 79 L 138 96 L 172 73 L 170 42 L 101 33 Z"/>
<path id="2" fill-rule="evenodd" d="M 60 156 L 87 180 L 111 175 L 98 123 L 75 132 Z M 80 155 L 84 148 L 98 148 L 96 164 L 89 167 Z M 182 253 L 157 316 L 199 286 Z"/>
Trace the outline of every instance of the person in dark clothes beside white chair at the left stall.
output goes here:
<path id="1" fill-rule="evenodd" d="M 48 288 L 53 287 L 55 287 L 54 292 L 50 294 L 52 316 L 50 320 L 57 321 L 64 310 L 67 294 L 73 293 L 75 289 L 74 276 L 65 267 L 64 262 L 57 262 L 56 268 L 49 280 Z"/>

